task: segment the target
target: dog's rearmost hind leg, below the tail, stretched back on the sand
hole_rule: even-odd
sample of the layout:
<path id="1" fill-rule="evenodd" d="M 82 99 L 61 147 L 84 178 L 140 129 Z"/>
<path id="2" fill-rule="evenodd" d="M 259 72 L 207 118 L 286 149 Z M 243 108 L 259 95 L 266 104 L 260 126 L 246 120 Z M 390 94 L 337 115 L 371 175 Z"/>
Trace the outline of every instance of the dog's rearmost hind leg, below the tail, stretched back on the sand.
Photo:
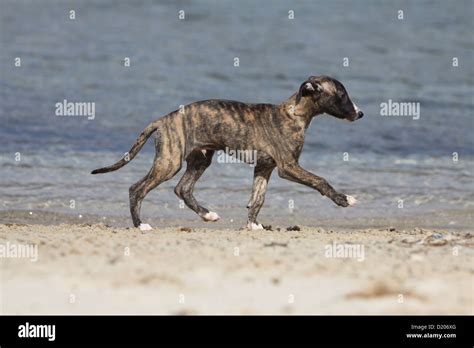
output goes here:
<path id="1" fill-rule="evenodd" d="M 150 225 L 142 224 L 140 220 L 143 199 L 151 190 L 162 182 L 171 179 L 181 169 L 181 147 L 173 146 L 166 141 L 160 145 L 160 148 L 148 174 L 129 189 L 130 213 L 132 214 L 133 225 L 141 230 L 151 229 Z"/>

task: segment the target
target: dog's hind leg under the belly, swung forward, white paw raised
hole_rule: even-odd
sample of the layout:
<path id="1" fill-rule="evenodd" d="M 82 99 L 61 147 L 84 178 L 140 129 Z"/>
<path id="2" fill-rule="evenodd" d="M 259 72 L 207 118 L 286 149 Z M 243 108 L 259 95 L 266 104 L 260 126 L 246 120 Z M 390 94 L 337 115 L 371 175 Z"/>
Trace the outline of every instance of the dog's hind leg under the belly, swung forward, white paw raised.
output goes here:
<path id="1" fill-rule="evenodd" d="M 211 150 L 206 150 L 205 152 L 195 150 L 191 152 L 186 158 L 186 172 L 174 189 L 176 195 L 204 221 L 217 221 L 219 216 L 201 206 L 193 196 L 193 191 L 196 182 L 211 165 L 213 155 L 214 151 Z"/>

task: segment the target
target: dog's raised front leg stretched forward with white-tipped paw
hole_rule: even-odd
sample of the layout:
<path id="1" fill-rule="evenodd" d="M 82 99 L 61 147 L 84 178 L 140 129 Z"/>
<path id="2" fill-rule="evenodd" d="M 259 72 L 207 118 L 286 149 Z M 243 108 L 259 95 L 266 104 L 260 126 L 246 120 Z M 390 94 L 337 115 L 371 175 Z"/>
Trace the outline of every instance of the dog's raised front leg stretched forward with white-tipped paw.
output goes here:
<path id="1" fill-rule="evenodd" d="M 318 190 L 323 196 L 329 197 L 334 203 L 341 207 L 352 206 L 356 203 L 354 197 L 346 196 L 345 194 L 337 192 L 331 185 L 329 185 L 326 179 L 308 172 L 298 164 L 278 167 L 278 175 L 284 179 Z"/>

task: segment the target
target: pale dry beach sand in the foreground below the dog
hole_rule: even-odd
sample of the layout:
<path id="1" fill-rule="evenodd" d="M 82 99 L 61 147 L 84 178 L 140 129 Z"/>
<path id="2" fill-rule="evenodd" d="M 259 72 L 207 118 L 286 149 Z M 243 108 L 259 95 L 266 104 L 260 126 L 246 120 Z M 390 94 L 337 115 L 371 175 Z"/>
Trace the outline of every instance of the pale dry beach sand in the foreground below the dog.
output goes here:
<path id="1" fill-rule="evenodd" d="M 0 244 L 38 245 L 36 262 L 0 259 L 4 314 L 473 313 L 469 231 L 13 223 Z"/>

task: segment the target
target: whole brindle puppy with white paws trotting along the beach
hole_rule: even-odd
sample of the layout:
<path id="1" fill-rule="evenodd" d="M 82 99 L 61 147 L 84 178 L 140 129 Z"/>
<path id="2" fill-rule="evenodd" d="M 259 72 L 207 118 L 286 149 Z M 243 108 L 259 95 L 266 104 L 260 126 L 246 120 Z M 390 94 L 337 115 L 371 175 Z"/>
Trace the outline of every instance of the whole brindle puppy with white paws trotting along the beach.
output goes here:
<path id="1" fill-rule="evenodd" d="M 211 164 L 216 150 L 256 151 L 253 190 L 247 205 L 249 229 L 262 229 L 257 215 L 263 205 L 268 180 L 273 169 L 284 179 L 318 190 L 341 207 L 356 200 L 337 192 L 328 182 L 298 164 L 305 131 L 312 118 L 327 113 L 340 119 L 355 121 L 364 114 L 351 101 L 339 81 L 327 76 L 311 76 L 299 91 L 280 105 L 247 104 L 230 100 L 204 100 L 192 103 L 149 124 L 130 151 L 117 163 L 92 171 L 107 173 L 127 164 L 156 132 L 156 155 L 145 177 L 130 187 L 130 212 L 133 225 L 142 224 L 140 207 L 145 196 L 162 182 L 171 179 L 187 162 L 186 172 L 174 192 L 204 221 L 219 216 L 201 206 L 193 196 L 194 185 Z"/>

